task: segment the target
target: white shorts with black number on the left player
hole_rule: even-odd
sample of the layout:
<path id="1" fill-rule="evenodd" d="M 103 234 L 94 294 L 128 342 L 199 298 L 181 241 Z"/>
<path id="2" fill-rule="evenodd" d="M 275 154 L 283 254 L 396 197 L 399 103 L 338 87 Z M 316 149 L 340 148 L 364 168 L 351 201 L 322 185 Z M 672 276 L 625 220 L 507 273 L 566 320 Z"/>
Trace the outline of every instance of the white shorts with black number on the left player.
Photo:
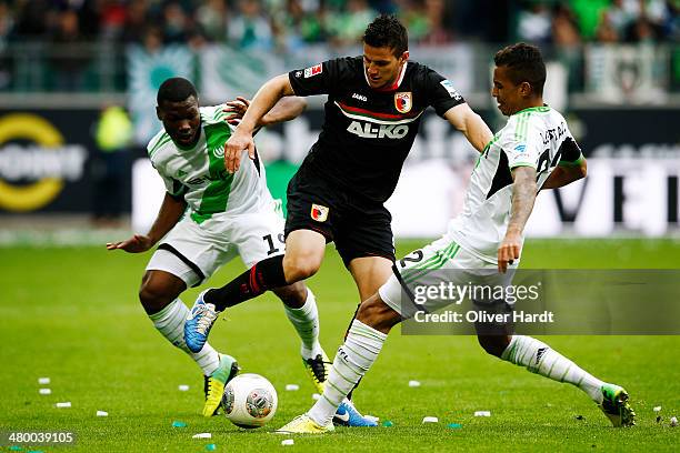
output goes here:
<path id="1" fill-rule="evenodd" d="M 241 256 L 254 263 L 284 252 L 286 223 L 274 202 L 270 210 L 239 215 L 217 214 L 202 223 L 184 215 L 163 238 L 147 270 L 166 271 L 198 286 L 220 266 Z"/>

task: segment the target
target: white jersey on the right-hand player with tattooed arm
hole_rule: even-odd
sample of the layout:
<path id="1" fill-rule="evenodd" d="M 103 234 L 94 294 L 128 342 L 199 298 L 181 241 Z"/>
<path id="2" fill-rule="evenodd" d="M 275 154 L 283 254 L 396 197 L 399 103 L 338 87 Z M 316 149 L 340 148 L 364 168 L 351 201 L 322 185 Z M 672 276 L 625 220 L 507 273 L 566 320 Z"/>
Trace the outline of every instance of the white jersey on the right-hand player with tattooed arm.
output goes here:
<path id="1" fill-rule="evenodd" d="M 580 159 L 581 150 L 559 112 L 536 107 L 514 113 L 478 158 L 463 210 L 449 223 L 449 234 L 479 259 L 496 263 L 510 221 L 512 169 L 534 168 L 540 190 L 558 164 Z"/>

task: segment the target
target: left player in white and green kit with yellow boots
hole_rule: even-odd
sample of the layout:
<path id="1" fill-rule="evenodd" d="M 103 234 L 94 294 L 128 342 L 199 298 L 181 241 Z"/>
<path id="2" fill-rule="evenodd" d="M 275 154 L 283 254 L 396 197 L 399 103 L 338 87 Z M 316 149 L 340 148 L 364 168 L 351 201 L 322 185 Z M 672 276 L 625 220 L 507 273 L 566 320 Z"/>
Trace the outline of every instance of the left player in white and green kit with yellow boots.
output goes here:
<path id="1" fill-rule="evenodd" d="M 238 373 L 236 360 L 206 344 L 191 351 L 183 336 L 189 309 L 179 299 L 221 265 L 241 256 L 246 266 L 282 254 L 283 215 L 267 189 L 264 165 L 248 160 L 236 173 L 224 170 L 224 143 L 248 101 L 199 107 L 191 82 L 166 80 L 158 91 L 157 113 L 163 129 L 149 142 L 149 159 L 166 184 L 158 217 L 146 235 L 107 244 L 130 253 L 160 241 L 142 279 L 139 299 L 156 329 L 184 351 L 204 374 L 203 415 L 219 409 L 224 384 Z M 276 105 L 260 125 L 290 120 L 302 112 L 302 99 Z M 231 113 L 230 113 L 231 112 Z M 329 366 L 319 344 L 319 316 L 313 293 L 303 282 L 274 290 L 298 332 L 302 361 L 317 390 L 323 391 Z"/>

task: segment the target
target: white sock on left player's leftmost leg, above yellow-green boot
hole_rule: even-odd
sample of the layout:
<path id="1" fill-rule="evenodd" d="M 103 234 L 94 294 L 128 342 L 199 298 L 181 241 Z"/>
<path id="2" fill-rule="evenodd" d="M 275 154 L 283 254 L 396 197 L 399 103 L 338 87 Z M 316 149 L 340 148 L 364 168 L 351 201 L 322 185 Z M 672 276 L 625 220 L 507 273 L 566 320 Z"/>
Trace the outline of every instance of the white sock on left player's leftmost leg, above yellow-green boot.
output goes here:
<path id="1" fill-rule="evenodd" d="M 184 321 L 189 315 L 189 309 L 179 299 L 173 300 L 163 310 L 149 315 L 156 329 L 174 346 L 184 351 L 203 370 L 204 375 L 210 375 L 220 364 L 220 355 L 208 343 L 197 353 L 189 351 L 184 343 Z"/>

